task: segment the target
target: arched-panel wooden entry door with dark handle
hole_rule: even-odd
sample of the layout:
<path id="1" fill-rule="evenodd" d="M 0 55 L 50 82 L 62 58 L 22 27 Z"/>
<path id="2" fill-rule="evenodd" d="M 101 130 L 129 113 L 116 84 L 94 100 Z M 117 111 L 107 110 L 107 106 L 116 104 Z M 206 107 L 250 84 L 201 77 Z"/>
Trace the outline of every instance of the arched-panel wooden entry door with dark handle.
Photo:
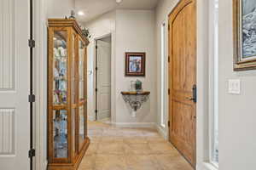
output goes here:
<path id="1" fill-rule="evenodd" d="M 170 140 L 195 167 L 196 10 L 181 0 L 169 15 Z"/>

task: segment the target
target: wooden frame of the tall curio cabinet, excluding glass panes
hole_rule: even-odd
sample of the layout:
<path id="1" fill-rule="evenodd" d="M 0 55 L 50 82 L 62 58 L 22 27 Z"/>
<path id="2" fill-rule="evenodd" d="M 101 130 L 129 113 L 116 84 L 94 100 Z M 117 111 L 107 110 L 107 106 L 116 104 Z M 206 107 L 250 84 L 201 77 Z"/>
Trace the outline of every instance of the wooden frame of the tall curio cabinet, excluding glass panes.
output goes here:
<path id="1" fill-rule="evenodd" d="M 76 20 L 49 19 L 48 20 L 48 169 L 74 170 L 79 167 L 90 139 L 87 137 L 87 71 L 86 47 L 87 38 L 82 35 Z M 64 105 L 54 105 L 54 47 L 55 32 L 65 31 L 67 48 L 67 101 Z M 79 99 L 79 41 L 84 43 L 84 97 Z M 65 76 L 64 76 L 65 77 Z M 74 80 L 74 81 L 73 81 Z M 79 107 L 84 105 L 84 141 L 79 147 Z M 54 146 L 54 111 L 67 111 L 67 157 L 55 157 Z"/>

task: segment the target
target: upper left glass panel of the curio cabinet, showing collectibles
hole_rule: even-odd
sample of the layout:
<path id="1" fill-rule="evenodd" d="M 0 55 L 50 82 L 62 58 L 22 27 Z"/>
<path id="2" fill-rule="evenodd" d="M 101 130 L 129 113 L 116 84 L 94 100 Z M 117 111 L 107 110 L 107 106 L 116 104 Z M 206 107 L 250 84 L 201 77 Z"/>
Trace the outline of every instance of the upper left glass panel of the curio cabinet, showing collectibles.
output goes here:
<path id="1" fill-rule="evenodd" d="M 67 31 L 54 31 L 53 103 L 67 104 Z"/>

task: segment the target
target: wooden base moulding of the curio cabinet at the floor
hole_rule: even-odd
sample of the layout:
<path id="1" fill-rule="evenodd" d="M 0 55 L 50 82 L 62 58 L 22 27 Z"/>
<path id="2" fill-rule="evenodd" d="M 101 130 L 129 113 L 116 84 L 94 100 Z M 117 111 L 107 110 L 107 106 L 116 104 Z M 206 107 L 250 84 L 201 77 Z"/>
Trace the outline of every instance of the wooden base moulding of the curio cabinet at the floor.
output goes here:
<path id="1" fill-rule="evenodd" d="M 73 163 L 49 163 L 47 166 L 47 170 L 77 170 L 90 144 L 89 138 L 85 140 L 86 142 L 83 149 L 80 151 L 79 156 L 77 156 L 77 158 L 73 160 Z"/>

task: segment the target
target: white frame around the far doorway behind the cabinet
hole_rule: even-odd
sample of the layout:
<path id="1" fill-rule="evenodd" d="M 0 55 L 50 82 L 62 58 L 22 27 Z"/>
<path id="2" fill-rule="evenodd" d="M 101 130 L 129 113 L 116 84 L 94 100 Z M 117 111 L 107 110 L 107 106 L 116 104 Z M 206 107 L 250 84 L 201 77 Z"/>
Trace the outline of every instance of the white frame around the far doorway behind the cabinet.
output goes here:
<path id="1" fill-rule="evenodd" d="M 94 79 L 94 86 L 93 86 L 93 95 L 95 96 L 94 98 L 94 111 L 96 111 L 97 108 L 97 94 L 96 94 L 96 88 L 97 88 L 97 71 L 96 71 L 96 64 L 97 64 L 97 49 L 96 49 L 96 45 L 97 45 L 97 41 L 101 40 L 104 37 L 111 37 L 111 122 L 115 122 L 115 99 L 114 99 L 114 93 L 115 93 L 115 53 L 114 53 L 114 37 L 113 37 L 113 32 L 104 34 L 102 36 L 99 37 L 95 37 L 94 38 L 94 44 L 93 44 L 93 48 L 94 48 L 94 57 L 93 57 L 93 69 L 95 71 L 95 74 L 93 76 Z M 96 120 L 96 112 L 95 112 L 95 120 Z M 97 121 L 97 120 L 96 120 Z"/>

